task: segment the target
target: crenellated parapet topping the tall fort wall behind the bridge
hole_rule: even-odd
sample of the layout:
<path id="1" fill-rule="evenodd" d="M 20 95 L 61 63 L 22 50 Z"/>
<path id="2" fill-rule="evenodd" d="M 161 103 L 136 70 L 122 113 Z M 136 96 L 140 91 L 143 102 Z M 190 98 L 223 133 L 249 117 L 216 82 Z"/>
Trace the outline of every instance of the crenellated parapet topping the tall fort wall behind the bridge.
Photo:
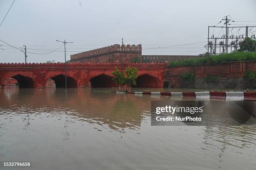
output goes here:
<path id="1" fill-rule="evenodd" d="M 98 56 L 106 56 L 109 54 L 114 54 L 114 53 L 140 53 L 141 54 L 142 49 L 141 49 L 141 44 L 136 45 L 119 45 L 115 44 L 112 46 L 107 46 L 107 47 L 102 47 L 102 48 L 97 48 L 94 50 L 90 51 L 84 51 L 82 53 L 76 53 L 70 56 L 71 61 L 79 61 L 84 58 L 93 58 L 93 57 L 98 57 Z"/>

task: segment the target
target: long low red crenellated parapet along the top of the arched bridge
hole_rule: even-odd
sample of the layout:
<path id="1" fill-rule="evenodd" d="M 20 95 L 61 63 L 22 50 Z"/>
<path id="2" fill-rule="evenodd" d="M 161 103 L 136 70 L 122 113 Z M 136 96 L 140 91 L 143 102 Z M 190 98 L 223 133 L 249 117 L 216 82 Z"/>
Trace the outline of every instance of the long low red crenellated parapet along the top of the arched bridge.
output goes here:
<path id="1" fill-rule="evenodd" d="M 87 68 L 87 67 L 166 67 L 167 63 L 66 63 L 67 68 Z M 65 63 L 0 63 L 1 68 L 64 68 Z"/>

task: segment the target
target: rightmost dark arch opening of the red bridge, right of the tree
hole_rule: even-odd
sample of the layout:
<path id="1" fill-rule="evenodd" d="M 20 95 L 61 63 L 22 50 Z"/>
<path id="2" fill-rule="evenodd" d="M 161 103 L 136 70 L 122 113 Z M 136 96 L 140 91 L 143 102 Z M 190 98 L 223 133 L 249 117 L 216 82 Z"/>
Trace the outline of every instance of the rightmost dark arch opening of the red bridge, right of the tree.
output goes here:
<path id="1" fill-rule="evenodd" d="M 139 75 L 135 87 L 159 87 L 160 80 L 150 74 Z"/>

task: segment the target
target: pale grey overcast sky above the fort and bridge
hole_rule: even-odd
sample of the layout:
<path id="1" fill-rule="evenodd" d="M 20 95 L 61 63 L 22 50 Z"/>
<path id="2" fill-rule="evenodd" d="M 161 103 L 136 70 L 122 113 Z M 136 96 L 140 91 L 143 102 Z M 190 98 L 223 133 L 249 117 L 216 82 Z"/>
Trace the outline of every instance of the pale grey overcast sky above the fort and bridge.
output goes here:
<path id="1" fill-rule="evenodd" d="M 12 2 L 0 0 L 0 22 Z M 15 0 L 0 27 L 0 40 L 17 48 L 26 45 L 31 53 L 54 51 L 62 45 L 56 39 L 73 41 L 67 44 L 67 59 L 80 51 L 120 44 L 121 38 L 124 44 L 141 43 L 144 55 L 197 55 L 205 52 L 206 43 L 145 48 L 207 41 L 208 25 L 226 15 L 236 21 L 256 20 L 255 9 L 256 0 Z M 219 33 L 216 29 L 215 37 Z M 44 55 L 31 53 L 28 62 L 64 61 L 64 47 Z M 0 63 L 24 61 L 23 52 L 0 42 Z"/>

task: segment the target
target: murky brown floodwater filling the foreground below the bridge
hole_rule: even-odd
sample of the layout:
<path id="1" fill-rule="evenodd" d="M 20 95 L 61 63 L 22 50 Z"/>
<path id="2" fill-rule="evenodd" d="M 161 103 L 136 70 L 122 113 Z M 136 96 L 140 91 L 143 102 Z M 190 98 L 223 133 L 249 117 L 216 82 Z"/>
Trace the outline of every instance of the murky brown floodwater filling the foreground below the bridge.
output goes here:
<path id="1" fill-rule="evenodd" d="M 255 169 L 255 124 L 151 126 L 151 100 L 171 96 L 110 91 L 0 89 L 0 161 L 33 170 Z"/>

